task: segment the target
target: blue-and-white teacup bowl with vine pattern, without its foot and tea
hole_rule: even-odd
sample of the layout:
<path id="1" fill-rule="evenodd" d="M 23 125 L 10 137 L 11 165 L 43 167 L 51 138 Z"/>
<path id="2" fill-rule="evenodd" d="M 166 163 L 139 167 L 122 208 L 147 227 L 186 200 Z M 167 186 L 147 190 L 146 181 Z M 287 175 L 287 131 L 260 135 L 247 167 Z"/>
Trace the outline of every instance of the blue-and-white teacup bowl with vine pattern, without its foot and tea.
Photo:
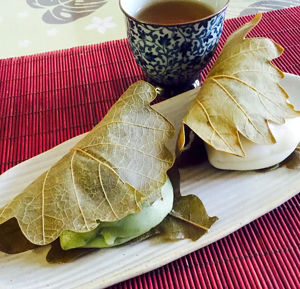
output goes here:
<path id="1" fill-rule="evenodd" d="M 155 84 L 188 86 L 212 59 L 229 0 L 201 0 L 216 12 L 197 21 L 164 25 L 138 20 L 137 12 L 155 1 L 119 0 L 126 16 L 131 50 L 139 66 Z"/>

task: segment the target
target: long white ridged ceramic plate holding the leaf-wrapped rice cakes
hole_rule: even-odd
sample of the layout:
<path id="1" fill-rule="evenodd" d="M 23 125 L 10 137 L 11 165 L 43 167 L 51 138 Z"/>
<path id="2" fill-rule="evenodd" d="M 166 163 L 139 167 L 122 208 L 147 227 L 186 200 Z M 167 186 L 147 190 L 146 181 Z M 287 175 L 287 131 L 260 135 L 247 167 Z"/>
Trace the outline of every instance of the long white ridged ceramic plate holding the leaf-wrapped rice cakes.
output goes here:
<path id="1" fill-rule="evenodd" d="M 300 77 L 287 74 L 282 86 L 300 109 Z M 197 90 L 155 105 L 178 130 Z M 84 135 L 23 162 L 0 176 L 0 207 L 66 154 Z M 174 149 L 177 135 L 170 142 Z M 26 170 L 23 169 L 26 166 Z M 163 243 L 155 237 L 137 244 L 101 249 L 64 265 L 48 265 L 49 246 L 18 255 L 0 252 L 0 288 L 105 288 L 148 272 L 215 242 L 271 211 L 300 191 L 300 172 L 279 168 L 267 173 L 222 171 L 208 162 L 181 170 L 183 195 L 199 196 L 210 216 L 211 230 L 197 242 Z"/>

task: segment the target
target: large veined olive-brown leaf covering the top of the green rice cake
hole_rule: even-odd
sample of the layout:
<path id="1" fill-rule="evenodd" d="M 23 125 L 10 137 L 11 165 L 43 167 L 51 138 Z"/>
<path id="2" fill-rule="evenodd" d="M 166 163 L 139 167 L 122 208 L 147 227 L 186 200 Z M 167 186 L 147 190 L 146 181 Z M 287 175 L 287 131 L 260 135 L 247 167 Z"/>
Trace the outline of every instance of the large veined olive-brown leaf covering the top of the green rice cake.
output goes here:
<path id="1" fill-rule="evenodd" d="M 67 155 L 0 209 L 0 224 L 15 217 L 31 243 L 45 245 L 64 230 L 88 232 L 97 220 L 116 221 L 161 198 L 174 127 L 149 105 L 155 97 L 146 82 L 129 87 Z"/>

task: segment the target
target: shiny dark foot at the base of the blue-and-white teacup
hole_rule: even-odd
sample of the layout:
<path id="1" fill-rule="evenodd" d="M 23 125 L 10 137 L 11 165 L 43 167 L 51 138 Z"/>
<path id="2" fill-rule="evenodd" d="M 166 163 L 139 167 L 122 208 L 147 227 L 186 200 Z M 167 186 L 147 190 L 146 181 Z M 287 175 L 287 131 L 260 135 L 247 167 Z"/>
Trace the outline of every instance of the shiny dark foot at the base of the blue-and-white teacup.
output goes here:
<path id="1" fill-rule="evenodd" d="M 150 77 L 147 77 L 146 81 L 155 87 L 157 96 L 164 99 L 174 97 L 202 85 L 200 76 L 193 83 L 187 85 L 162 85 L 154 82 Z"/>

